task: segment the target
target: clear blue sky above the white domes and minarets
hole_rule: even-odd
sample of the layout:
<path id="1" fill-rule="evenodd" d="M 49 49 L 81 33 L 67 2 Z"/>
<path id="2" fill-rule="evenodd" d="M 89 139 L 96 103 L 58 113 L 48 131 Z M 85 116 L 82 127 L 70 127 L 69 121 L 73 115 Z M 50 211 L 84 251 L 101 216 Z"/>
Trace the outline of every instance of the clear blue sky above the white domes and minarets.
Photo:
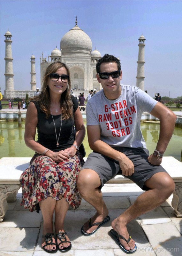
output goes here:
<path id="1" fill-rule="evenodd" d="M 119 57 L 122 84 L 136 85 L 138 39 L 145 37 L 144 90 L 151 97 L 182 95 L 182 1 L 0 1 L 0 87 L 5 90 L 5 36 L 12 35 L 14 89 L 30 90 L 31 56 L 36 87 L 40 57 L 60 49 L 62 37 L 77 25 L 92 50 Z"/>

